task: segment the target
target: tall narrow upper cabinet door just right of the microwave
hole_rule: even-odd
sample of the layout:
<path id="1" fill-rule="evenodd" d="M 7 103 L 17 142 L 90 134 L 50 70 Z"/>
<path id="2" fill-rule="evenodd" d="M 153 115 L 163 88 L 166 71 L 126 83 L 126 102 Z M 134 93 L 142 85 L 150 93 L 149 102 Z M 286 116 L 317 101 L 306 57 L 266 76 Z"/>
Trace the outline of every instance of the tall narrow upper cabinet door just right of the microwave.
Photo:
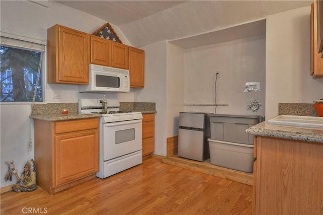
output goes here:
<path id="1" fill-rule="evenodd" d="M 129 47 L 129 72 L 130 72 L 130 87 L 144 87 L 144 50 Z"/>

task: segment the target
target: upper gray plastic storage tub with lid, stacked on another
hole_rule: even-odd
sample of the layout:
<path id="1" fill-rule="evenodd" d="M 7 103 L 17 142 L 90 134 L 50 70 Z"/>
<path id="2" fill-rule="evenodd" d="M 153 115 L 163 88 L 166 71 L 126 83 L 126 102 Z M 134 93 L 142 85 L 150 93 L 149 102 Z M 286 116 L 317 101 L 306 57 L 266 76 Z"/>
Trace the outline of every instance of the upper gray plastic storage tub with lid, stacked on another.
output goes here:
<path id="1" fill-rule="evenodd" d="M 211 139 L 253 145 L 252 134 L 246 129 L 262 121 L 262 116 L 210 114 Z"/>

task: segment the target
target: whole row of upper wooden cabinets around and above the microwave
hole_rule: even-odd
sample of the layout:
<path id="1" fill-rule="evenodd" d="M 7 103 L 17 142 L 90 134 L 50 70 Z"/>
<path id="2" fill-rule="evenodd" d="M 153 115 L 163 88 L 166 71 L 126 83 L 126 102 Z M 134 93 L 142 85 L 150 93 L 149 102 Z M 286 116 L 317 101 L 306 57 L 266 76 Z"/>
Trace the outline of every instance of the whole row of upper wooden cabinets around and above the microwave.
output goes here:
<path id="1" fill-rule="evenodd" d="M 61 25 L 47 29 L 47 82 L 88 84 L 89 63 L 129 69 L 130 87 L 144 87 L 144 50 Z"/>

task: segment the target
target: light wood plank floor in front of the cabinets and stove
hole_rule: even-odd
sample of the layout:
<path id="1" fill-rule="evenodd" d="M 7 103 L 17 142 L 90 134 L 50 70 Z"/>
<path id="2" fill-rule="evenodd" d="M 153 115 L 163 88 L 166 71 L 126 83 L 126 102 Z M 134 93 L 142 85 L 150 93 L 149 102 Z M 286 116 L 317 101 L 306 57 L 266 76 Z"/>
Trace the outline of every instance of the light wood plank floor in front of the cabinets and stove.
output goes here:
<path id="1" fill-rule="evenodd" d="M 53 195 L 41 188 L 1 194 L 1 214 L 251 214 L 251 207 L 252 186 L 157 158 Z"/>

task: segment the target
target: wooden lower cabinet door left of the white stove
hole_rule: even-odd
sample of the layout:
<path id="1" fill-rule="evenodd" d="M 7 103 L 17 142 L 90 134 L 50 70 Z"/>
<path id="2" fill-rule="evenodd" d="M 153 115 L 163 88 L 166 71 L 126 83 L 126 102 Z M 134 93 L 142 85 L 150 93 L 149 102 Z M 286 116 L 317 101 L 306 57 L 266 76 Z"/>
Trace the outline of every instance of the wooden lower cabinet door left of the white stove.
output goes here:
<path id="1" fill-rule="evenodd" d="M 98 172 L 98 131 L 80 131 L 55 138 L 55 185 Z"/>

